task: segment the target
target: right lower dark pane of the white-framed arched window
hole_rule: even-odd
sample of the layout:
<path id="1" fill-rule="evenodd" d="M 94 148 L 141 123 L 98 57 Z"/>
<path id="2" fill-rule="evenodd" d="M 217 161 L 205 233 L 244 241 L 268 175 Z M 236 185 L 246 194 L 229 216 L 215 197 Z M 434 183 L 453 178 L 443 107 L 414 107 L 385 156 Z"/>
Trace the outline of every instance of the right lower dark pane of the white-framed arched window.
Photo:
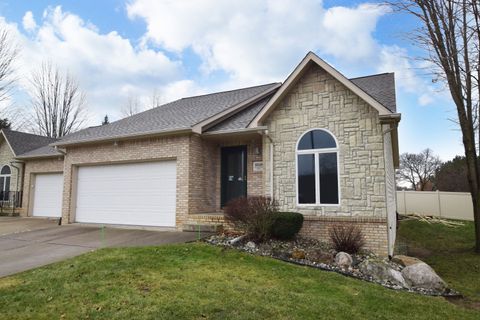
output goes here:
<path id="1" fill-rule="evenodd" d="M 320 153 L 320 203 L 338 204 L 337 154 Z"/>

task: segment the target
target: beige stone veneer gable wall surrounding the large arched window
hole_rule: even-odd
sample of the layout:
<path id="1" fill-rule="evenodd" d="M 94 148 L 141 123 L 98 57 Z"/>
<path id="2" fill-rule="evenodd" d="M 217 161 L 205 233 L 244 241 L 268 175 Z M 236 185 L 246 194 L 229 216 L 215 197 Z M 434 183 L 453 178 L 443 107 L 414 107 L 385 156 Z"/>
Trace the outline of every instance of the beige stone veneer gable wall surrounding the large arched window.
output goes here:
<path id="1" fill-rule="evenodd" d="M 347 218 L 345 221 L 362 227 L 371 247 L 386 251 L 385 165 L 378 112 L 314 65 L 279 102 L 265 124 L 273 140 L 274 196 L 281 209 L 306 216 Z M 296 203 L 296 144 L 303 133 L 315 128 L 328 129 L 339 143 L 339 206 L 304 207 Z M 270 190 L 270 141 L 264 138 L 263 143 L 265 190 Z M 377 227 L 359 223 L 365 218 L 376 219 Z M 327 224 L 332 223 L 308 218 L 303 233 L 324 239 Z M 381 244 L 374 243 L 376 238 Z"/>

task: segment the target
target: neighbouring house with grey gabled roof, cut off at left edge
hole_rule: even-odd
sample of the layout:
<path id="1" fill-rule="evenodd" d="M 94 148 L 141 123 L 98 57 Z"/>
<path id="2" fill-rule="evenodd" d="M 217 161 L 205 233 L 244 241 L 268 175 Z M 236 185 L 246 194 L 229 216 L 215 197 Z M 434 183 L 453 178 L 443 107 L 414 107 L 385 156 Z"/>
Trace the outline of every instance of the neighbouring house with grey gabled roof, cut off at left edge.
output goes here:
<path id="1" fill-rule="evenodd" d="M 0 135 L 0 204 L 18 207 L 22 201 L 23 163 L 15 159 L 25 152 L 55 142 L 35 134 L 2 129 Z"/>

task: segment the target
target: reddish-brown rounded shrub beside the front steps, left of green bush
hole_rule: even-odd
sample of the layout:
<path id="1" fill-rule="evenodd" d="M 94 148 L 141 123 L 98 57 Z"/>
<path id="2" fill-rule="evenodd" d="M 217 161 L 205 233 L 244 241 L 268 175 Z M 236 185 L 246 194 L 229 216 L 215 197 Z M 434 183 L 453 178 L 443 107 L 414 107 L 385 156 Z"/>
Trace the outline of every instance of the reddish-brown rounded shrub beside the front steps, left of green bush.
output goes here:
<path id="1" fill-rule="evenodd" d="M 276 202 L 268 197 L 242 197 L 226 205 L 225 218 L 251 240 L 265 241 L 271 236 L 277 212 Z"/>

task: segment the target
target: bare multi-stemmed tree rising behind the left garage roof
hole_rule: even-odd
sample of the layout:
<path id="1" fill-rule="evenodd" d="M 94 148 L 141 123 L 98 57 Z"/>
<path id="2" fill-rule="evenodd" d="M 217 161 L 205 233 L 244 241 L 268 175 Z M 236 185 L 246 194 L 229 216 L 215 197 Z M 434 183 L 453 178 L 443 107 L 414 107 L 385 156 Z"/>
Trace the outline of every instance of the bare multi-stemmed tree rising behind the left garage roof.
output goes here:
<path id="1" fill-rule="evenodd" d="M 80 129 L 86 121 L 85 94 L 78 82 L 45 62 L 33 73 L 30 91 L 33 130 L 60 138 Z"/>

